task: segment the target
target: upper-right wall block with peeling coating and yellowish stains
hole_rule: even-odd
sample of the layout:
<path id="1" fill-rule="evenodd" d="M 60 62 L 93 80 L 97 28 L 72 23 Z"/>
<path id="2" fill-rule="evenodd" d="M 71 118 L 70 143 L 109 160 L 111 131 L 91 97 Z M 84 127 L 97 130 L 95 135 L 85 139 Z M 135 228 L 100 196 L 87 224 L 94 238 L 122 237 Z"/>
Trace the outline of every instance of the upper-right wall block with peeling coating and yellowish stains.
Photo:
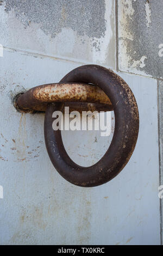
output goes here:
<path id="1" fill-rule="evenodd" d="M 119 0 L 120 70 L 163 77 L 163 1 Z"/>

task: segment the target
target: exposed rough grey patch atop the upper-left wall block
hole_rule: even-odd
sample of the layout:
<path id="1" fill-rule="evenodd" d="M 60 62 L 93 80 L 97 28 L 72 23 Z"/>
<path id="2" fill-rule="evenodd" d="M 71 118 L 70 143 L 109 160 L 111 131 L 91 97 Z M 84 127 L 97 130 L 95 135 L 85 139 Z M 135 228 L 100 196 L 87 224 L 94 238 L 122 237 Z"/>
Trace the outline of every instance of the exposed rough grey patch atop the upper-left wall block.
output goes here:
<path id="1" fill-rule="evenodd" d="M 105 0 L 6 0 L 5 11 L 11 10 L 25 27 L 39 23 L 52 38 L 64 27 L 90 38 L 105 35 Z"/>

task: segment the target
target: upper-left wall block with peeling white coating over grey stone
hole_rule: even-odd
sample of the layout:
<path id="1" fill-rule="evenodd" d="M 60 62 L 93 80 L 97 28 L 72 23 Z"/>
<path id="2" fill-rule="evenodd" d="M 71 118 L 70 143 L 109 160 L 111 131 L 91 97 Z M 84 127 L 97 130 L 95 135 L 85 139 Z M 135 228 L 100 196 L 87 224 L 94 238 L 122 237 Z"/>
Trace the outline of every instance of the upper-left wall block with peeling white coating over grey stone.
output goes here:
<path id="1" fill-rule="evenodd" d="M 6 0 L 1 44 L 115 68 L 114 0 Z"/>

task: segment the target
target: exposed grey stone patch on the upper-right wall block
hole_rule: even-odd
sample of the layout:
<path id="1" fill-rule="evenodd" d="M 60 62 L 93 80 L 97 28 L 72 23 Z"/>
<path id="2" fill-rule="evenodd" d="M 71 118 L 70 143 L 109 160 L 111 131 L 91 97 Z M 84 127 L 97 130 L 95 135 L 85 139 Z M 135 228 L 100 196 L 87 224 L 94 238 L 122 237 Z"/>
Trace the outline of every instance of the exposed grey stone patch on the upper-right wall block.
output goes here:
<path id="1" fill-rule="evenodd" d="M 133 40 L 123 39 L 127 46 L 127 55 L 130 57 L 129 65 L 132 65 L 134 60 L 146 56 L 145 66 L 136 68 L 153 77 L 161 78 L 163 57 L 159 57 L 159 45 L 163 44 L 163 1 L 132 0 L 131 3 L 134 14 L 127 15 L 124 29 L 133 36 Z M 128 5 L 124 4 L 123 8 L 128 8 Z"/>

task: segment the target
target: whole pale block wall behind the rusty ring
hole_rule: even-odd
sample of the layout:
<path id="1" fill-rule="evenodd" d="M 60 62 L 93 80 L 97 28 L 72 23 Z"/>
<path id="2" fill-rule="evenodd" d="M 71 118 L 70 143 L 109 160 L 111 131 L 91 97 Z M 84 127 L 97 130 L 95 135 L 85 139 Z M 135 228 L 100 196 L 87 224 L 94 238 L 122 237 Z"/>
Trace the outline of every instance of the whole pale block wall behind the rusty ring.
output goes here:
<path id="1" fill-rule="evenodd" d="M 0 2 L 0 243 L 159 245 L 163 3 Z M 12 102 L 24 89 L 58 82 L 87 63 L 117 72 L 133 90 L 140 113 L 129 163 L 115 179 L 93 188 L 61 178 L 46 151 L 44 114 L 19 113 Z M 107 139 L 100 131 L 64 131 L 62 137 L 72 159 L 90 166 L 108 149 L 113 132 L 112 113 Z"/>

